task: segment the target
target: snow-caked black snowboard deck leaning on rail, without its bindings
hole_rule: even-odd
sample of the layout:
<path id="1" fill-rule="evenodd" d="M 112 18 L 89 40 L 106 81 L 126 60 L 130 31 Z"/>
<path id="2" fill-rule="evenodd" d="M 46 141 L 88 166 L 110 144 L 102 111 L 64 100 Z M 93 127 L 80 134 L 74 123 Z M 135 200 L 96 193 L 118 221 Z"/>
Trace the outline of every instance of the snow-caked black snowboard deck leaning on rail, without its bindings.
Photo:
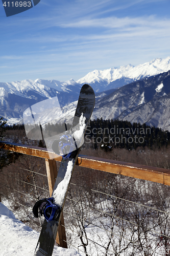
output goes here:
<path id="1" fill-rule="evenodd" d="M 51 197 L 51 202 L 55 203 L 56 207 L 58 207 L 57 215 L 55 219 L 50 221 L 44 220 L 35 249 L 36 256 L 51 256 L 53 253 L 70 179 L 79 155 L 80 146 L 82 145 L 82 141 L 84 142 L 85 132 L 94 108 L 94 103 L 95 94 L 93 89 L 88 84 L 84 84 L 80 91 L 75 117 L 70 129 L 71 137 L 76 141 L 76 147 L 74 151 L 69 152 L 66 157 L 62 158 Z"/>

